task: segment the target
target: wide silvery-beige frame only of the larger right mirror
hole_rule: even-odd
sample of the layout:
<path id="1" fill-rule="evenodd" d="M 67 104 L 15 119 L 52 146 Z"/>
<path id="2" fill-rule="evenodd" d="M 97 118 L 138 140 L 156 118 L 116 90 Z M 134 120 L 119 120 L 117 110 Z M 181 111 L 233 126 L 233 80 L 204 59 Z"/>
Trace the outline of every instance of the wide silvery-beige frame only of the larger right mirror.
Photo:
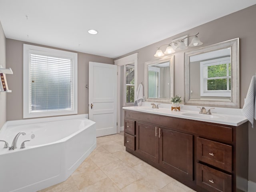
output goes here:
<path id="1" fill-rule="evenodd" d="M 230 48 L 231 57 L 231 100 L 200 100 L 190 99 L 190 57 Z M 184 53 L 184 104 L 185 105 L 197 105 L 197 106 L 216 106 L 216 107 L 228 107 L 228 108 L 240 108 L 240 75 L 239 75 L 239 38 L 220 42 L 210 46 L 205 46 L 190 52 Z"/>

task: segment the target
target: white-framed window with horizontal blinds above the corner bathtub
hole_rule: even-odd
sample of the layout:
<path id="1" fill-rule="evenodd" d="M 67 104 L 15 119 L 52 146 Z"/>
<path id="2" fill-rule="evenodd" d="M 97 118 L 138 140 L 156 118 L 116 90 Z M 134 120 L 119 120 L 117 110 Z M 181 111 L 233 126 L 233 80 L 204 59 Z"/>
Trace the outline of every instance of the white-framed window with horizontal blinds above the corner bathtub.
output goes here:
<path id="1" fill-rule="evenodd" d="M 77 54 L 38 46 L 29 48 L 24 49 L 24 88 L 28 89 L 24 118 L 76 114 Z"/>

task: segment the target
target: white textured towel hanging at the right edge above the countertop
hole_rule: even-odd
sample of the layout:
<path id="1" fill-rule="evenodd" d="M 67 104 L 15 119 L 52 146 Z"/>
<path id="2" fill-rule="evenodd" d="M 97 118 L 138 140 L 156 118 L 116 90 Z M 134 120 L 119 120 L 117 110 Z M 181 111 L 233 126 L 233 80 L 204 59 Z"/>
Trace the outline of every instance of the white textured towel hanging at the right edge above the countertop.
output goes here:
<path id="1" fill-rule="evenodd" d="M 242 113 L 252 124 L 256 120 L 256 76 L 252 76 L 252 80 L 246 95 L 246 100 L 242 109 Z"/>

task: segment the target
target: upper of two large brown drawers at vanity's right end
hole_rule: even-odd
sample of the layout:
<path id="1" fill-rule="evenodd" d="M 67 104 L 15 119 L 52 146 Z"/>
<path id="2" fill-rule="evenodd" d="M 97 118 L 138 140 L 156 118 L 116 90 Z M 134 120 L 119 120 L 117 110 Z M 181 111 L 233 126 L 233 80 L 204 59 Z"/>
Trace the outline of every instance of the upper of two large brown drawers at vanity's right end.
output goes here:
<path id="1" fill-rule="evenodd" d="M 197 159 L 232 172 L 232 146 L 197 138 Z"/>

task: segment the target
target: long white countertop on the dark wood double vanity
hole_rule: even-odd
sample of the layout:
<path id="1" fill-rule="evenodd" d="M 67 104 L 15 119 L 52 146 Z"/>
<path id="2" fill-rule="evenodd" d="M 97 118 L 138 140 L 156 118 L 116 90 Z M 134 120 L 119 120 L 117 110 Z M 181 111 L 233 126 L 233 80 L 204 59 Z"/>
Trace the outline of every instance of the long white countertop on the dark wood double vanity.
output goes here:
<path id="1" fill-rule="evenodd" d="M 143 102 L 142 106 L 126 106 L 123 107 L 125 110 L 132 110 L 138 112 L 146 112 L 151 114 L 158 114 L 170 117 L 184 118 L 190 120 L 198 120 L 204 122 L 212 122 L 224 125 L 239 126 L 244 122 L 248 121 L 245 116 L 242 115 L 241 109 L 233 108 L 214 108 L 211 110 L 212 115 L 199 114 L 198 108 L 196 106 L 186 106 L 180 105 L 180 111 L 171 111 L 170 104 L 161 104 L 159 109 L 153 109 L 150 103 Z M 212 107 L 205 108 L 208 110 Z"/>

